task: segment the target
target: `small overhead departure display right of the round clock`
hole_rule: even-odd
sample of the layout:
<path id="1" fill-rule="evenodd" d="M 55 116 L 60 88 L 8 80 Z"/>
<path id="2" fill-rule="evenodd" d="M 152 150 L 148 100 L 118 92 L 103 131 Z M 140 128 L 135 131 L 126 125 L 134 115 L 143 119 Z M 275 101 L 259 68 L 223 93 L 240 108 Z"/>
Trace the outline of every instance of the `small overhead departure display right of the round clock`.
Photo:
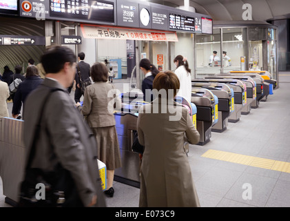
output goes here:
<path id="1" fill-rule="evenodd" d="M 195 30 L 194 18 L 187 17 L 185 15 L 175 15 L 169 13 L 169 29 L 187 30 L 194 32 Z"/>

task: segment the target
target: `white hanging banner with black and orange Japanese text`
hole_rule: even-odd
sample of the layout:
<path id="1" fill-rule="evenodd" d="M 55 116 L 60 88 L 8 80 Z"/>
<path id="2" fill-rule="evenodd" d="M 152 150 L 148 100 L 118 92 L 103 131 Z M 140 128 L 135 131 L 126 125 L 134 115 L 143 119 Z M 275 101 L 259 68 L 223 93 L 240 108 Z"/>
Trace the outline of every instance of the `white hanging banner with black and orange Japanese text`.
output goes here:
<path id="1" fill-rule="evenodd" d="M 176 32 L 115 28 L 81 24 L 83 37 L 90 39 L 119 39 L 136 41 L 178 41 Z"/>

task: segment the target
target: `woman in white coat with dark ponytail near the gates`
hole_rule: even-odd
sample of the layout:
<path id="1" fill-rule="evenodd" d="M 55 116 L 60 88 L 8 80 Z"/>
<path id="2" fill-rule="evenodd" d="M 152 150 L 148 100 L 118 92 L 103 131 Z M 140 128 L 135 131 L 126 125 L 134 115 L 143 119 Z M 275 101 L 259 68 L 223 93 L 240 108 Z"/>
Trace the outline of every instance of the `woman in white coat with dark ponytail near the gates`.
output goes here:
<path id="1" fill-rule="evenodd" d="M 180 89 L 177 96 L 184 97 L 187 101 L 191 102 L 191 70 L 188 67 L 187 58 L 182 55 L 174 58 L 174 64 L 176 66 L 175 74 L 180 81 Z"/>

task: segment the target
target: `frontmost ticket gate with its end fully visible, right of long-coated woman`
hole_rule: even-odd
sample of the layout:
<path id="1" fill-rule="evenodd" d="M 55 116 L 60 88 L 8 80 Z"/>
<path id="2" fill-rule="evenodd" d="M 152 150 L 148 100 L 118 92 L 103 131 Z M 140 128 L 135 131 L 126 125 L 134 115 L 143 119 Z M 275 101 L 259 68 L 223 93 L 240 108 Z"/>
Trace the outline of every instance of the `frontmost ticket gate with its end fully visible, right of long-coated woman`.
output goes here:
<path id="1" fill-rule="evenodd" d="M 191 103 L 196 105 L 196 128 L 200 134 L 198 145 L 205 145 L 211 138 L 211 127 L 218 122 L 218 97 L 205 88 L 191 89 Z"/>

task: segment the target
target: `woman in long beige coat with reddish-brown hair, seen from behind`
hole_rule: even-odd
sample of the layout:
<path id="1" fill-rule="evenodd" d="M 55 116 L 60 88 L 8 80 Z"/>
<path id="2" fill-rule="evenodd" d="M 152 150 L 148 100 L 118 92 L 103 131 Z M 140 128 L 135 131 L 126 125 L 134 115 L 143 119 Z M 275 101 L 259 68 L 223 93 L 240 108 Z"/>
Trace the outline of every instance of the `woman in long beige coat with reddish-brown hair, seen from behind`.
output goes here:
<path id="1" fill-rule="evenodd" d="M 156 95 L 158 98 L 139 112 L 138 140 L 145 146 L 139 206 L 200 206 L 183 149 L 185 140 L 196 144 L 200 135 L 187 109 L 174 102 L 179 87 L 174 73 L 159 73 L 153 88 L 163 89 L 168 97 Z"/>

